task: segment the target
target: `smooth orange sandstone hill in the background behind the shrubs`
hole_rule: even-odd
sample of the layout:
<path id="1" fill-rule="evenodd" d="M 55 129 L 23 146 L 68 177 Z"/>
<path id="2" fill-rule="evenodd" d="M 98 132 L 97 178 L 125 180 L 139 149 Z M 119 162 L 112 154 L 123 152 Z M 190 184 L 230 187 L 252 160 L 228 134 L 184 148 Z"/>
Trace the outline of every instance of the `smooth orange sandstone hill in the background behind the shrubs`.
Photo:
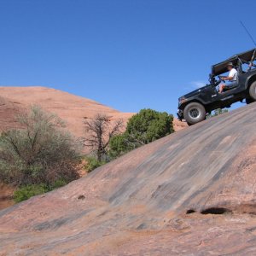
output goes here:
<path id="1" fill-rule="evenodd" d="M 111 120 L 126 122 L 134 113 L 122 113 L 90 99 L 39 86 L 0 87 L 0 125 L 15 127 L 14 113 L 38 104 L 49 112 L 58 114 L 67 123 L 67 129 L 77 137 L 84 136 L 84 119 L 92 119 L 96 113 L 106 113 Z M 1 127 L 1 126 L 0 126 Z M 185 123 L 174 121 L 178 131 Z"/>

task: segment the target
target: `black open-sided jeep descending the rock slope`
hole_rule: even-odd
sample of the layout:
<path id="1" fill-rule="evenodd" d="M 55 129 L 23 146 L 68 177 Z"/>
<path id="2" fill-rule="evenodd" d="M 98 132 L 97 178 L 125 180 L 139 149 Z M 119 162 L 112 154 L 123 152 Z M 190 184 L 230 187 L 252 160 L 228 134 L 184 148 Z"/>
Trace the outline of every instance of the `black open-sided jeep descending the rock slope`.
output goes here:
<path id="1" fill-rule="evenodd" d="M 209 84 L 194 90 L 178 99 L 177 117 L 185 119 L 188 125 L 194 125 L 206 119 L 207 114 L 218 108 L 230 108 L 234 102 L 247 104 L 256 101 L 256 49 L 251 49 L 230 59 L 212 66 Z M 218 84 L 224 82 L 219 75 L 228 71 L 229 62 L 237 70 L 236 84 L 227 87 L 223 93 L 218 93 Z M 243 70 L 247 65 L 247 70 Z M 218 78 L 218 79 L 216 79 Z"/>

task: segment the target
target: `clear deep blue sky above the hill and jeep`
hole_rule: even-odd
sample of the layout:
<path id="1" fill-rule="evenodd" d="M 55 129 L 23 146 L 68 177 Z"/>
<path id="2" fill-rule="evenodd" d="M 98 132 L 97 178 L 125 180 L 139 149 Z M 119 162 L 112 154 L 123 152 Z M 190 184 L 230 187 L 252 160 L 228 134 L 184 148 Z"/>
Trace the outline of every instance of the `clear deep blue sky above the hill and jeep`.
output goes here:
<path id="1" fill-rule="evenodd" d="M 253 43 L 255 0 L 0 0 L 0 84 L 124 112 L 176 113 L 212 64 Z"/>

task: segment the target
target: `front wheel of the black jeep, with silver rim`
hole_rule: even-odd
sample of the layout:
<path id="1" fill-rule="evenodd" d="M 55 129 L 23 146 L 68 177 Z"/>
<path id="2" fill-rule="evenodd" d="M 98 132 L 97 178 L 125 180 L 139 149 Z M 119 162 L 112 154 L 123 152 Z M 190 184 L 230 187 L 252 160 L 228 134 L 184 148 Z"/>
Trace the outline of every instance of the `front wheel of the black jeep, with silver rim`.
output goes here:
<path id="1" fill-rule="evenodd" d="M 206 109 L 201 103 L 191 102 L 184 108 L 184 118 L 189 125 L 195 125 L 206 119 Z"/>

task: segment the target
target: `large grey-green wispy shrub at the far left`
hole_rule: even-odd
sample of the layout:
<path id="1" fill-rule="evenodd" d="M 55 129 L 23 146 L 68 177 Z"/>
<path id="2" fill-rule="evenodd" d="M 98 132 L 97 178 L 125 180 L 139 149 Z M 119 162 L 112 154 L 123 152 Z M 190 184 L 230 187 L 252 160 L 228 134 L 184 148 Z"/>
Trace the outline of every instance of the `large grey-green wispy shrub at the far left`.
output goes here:
<path id="1" fill-rule="evenodd" d="M 4 131 L 0 137 L 0 180 L 54 186 L 79 177 L 79 142 L 63 130 L 61 119 L 37 106 L 16 119 L 22 129 Z"/>

